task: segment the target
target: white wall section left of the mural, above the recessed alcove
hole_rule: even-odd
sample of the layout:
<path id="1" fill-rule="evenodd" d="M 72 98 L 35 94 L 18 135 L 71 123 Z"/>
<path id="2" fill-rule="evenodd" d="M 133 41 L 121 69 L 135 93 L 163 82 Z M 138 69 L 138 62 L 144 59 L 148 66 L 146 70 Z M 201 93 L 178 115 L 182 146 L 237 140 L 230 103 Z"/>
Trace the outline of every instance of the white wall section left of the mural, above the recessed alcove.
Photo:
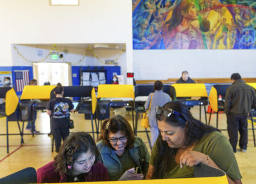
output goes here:
<path id="1" fill-rule="evenodd" d="M 12 62 L 11 44 L 126 43 L 126 72 L 132 72 L 132 1 L 79 3 L 49 6 L 48 0 L 0 0 L 1 66 L 30 66 Z"/>

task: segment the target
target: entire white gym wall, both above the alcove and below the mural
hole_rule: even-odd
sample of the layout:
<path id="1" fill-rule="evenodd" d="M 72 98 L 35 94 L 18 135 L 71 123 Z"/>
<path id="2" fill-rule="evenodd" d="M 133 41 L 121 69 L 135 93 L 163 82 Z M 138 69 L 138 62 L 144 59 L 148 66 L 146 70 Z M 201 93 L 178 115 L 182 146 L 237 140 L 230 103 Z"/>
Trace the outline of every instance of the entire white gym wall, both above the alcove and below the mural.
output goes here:
<path id="1" fill-rule="evenodd" d="M 256 77 L 255 50 L 134 50 L 131 0 L 80 0 L 49 6 L 48 0 L 0 0 L 0 61 L 12 63 L 11 44 L 126 43 L 126 72 L 135 79 Z M 23 64 L 22 64 L 23 65 Z M 132 79 L 128 79 L 128 83 Z"/>

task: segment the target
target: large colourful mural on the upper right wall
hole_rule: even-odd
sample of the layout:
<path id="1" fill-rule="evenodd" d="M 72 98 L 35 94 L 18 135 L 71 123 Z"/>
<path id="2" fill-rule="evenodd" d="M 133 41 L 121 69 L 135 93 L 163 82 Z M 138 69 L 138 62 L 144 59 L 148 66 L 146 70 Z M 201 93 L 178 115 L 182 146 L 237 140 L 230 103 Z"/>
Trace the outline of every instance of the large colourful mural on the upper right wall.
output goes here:
<path id="1" fill-rule="evenodd" d="M 134 49 L 255 49 L 255 0 L 132 0 Z"/>

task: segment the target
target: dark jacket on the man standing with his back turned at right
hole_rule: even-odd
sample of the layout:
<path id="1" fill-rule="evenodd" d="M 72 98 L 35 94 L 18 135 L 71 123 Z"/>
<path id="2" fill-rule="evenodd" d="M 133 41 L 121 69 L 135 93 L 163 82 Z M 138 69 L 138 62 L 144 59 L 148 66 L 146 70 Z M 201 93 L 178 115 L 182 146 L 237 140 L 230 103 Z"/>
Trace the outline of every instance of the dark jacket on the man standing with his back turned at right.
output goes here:
<path id="1" fill-rule="evenodd" d="M 247 85 L 244 80 L 236 80 L 226 90 L 225 113 L 247 115 L 256 105 L 255 89 Z"/>

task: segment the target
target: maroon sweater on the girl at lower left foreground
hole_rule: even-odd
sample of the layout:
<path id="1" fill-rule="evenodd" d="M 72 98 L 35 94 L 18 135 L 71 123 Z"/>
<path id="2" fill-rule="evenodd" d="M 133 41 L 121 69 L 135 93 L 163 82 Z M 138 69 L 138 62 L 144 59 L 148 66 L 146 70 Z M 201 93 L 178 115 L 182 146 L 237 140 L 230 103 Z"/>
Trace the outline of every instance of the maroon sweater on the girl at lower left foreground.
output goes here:
<path id="1" fill-rule="evenodd" d="M 59 172 L 55 172 L 55 167 L 53 166 L 54 161 L 46 164 L 38 169 L 36 172 L 38 177 L 38 183 L 64 183 L 67 182 L 67 176 L 61 175 Z M 100 182 L 108 181 L 108 172 L 102 163 L 96 163 L 90 169 L 90 172 L 84 174 L 84 180 L 86 182 Z"/>

